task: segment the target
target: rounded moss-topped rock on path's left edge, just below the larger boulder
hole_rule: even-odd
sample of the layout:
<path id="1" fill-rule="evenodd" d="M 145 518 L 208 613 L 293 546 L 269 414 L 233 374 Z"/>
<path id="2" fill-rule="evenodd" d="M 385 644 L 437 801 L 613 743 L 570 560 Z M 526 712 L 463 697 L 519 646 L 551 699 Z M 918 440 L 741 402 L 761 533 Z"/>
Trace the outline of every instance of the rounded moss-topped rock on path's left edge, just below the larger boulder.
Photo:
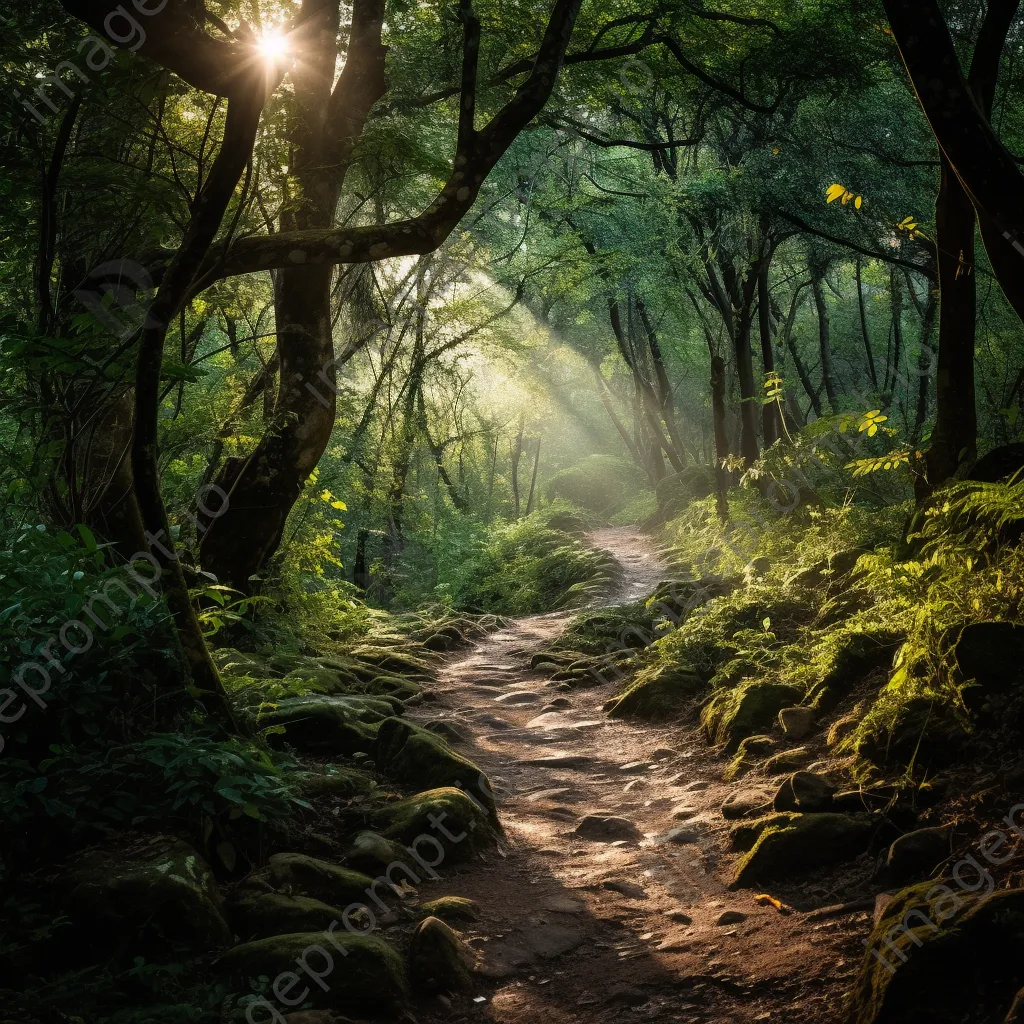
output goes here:
<path id="1" fill-rule="evenodd" d="M 388 804 L 376 811 L 372 820 L 386 839 L 406 846 L 422 846 L 423 856 L 428 861 L 434 859 L 436 853 L 431 852 L 433 844 L 428 844 L 426 839 L 440 843 L 445 863 L 458 863 L 471 857 L 480 847 L 493 845 L 496 838 L 492 824 L 495 819 L 453 786 L 427 790 Z M 449 839 L 441 828 L 457 838 Z M 421 838 L 423 843 L 419 843 Z M 412 861 L 410 866 L 416 869 Z"/>

